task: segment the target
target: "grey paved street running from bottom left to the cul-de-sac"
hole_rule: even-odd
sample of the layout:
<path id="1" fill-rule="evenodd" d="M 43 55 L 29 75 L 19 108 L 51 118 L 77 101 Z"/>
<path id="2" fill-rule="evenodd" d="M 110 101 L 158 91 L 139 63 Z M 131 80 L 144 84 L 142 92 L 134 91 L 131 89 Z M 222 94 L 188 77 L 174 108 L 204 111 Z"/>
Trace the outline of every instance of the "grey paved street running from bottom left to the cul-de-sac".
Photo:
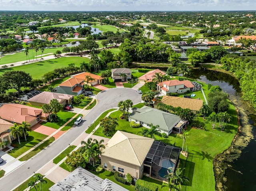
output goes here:
<path id="1" fill-rule="evenodd" d="M 93 121 L 100 116 L 102 112 L 112 107 L 116 107 L 121 100 L 131 99 L 134 104 L 141 101 L 141 95 L 134 89 L 129 88 L 114 88 L 100 92 L 96 96 L 97 105 L 86 114 L 84 121 L 68 130 L 58 140 L 54 141 L 46 149 L 39 154 L 32 157 L 20 167 L 5 175 L 0 179 L 1 191 L 11 191 L 22 183 L 28 177 L 32 176 L 34 172 L 44 166 L 48 161 L 54 159 L 58 154 L 64 150 L 68 144 L 73 142 L 80 134 L 82 134 Z"/>

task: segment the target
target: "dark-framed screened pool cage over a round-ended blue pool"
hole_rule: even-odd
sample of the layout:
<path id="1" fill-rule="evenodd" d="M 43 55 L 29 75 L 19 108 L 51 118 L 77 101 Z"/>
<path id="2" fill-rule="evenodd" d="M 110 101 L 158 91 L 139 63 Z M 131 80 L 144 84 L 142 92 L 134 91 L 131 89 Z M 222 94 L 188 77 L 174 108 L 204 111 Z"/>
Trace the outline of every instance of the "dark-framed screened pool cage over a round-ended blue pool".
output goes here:
<path id="1" fill-rule="evenodd" d="M 180 148 L 166 145 L 161 141 L 154 141 L 144 160 L 144 165 L 151 166 L 149 172 L 151 177 L 168 181 L 168 178 L 164 176 L 175 171 L 179 155 Z"/>

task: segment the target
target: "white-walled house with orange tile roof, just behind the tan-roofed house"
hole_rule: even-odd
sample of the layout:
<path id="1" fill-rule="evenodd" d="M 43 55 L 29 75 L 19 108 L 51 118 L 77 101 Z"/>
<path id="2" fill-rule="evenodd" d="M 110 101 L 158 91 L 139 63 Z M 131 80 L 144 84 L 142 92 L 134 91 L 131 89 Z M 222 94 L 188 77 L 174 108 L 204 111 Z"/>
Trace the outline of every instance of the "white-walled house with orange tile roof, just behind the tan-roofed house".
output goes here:
<path id="1" fill-rule="evenodd" d="M 160 91 L 164 95 L 168 93 L 185 93 L 187 91 L 193 91 L 193 89 L 194 85 L 188 80 L 169 80 L 157 84 L 157 91 Z"/>

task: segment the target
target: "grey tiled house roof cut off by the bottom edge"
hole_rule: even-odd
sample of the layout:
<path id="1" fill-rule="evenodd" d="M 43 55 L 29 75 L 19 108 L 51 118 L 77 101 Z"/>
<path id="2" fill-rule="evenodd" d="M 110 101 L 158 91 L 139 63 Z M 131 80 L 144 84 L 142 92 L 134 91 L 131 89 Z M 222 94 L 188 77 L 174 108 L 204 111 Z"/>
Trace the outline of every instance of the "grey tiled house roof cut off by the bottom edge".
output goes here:
<path id="1" fill-rule="evenodd" d="M 105 178 L 104 180 L 82 167 L 77 167 L 65 179 L 55 183 L 49 191 L 128 191 Z"/>

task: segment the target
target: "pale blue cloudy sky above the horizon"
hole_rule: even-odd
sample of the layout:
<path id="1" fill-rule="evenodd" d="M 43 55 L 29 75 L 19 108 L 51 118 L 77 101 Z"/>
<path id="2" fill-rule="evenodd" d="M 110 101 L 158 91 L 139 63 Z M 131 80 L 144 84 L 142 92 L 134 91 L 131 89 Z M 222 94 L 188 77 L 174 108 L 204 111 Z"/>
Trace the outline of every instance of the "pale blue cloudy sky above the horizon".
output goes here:
<path id="1" fill-rule="evenodd" d="M 0 0 L 0 10 L 207 11 L 256 10 L 255 0 Z"/>

